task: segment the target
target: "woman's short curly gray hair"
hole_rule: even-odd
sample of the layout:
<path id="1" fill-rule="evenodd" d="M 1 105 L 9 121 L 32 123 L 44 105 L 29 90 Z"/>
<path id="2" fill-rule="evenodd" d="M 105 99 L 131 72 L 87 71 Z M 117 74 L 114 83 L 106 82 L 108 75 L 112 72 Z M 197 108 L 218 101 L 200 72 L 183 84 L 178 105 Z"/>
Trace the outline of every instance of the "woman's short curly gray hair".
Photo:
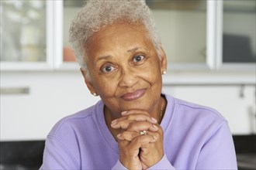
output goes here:
<path id="1" fill-rule="evenodd" d="M 89 0 L 71 22 L 69 40 L 81 69 L 87 71 L 86 42 L 94 32 L 114 22 L 139 22 L 148 32 L 157 55 L 160 55 L 160 37 L 157 35 L 150 8 L 144 0 Z M 88 72 L 88 71 L 87 71 Z"/>

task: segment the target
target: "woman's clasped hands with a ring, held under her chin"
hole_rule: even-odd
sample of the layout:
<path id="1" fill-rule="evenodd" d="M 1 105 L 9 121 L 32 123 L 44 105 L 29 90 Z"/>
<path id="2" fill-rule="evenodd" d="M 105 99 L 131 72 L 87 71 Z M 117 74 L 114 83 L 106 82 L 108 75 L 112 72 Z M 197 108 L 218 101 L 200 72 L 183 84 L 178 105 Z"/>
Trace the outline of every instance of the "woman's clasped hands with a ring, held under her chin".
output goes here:
<path id="1" fill-rule="evenodd" d="M 163 131 L 157 120 L 144 110 L 129 110 L 112 121 L 118 134 L 119 161 L 128 169 L 147 169 L 164 156 Z M 140 131 L 146 131 L 145 135 Z"/>

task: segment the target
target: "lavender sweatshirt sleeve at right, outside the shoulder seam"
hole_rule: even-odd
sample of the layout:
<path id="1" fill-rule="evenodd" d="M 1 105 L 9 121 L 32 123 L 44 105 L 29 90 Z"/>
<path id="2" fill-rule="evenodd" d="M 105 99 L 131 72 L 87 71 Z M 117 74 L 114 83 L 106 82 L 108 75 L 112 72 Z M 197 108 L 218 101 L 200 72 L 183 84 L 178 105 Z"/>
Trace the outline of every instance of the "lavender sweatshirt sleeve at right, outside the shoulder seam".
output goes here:
<path id="1" fill-rule="evenodd" d="M 227 121 L 203 145 L 195 169 L 237 169 L 234 141 Z"/>

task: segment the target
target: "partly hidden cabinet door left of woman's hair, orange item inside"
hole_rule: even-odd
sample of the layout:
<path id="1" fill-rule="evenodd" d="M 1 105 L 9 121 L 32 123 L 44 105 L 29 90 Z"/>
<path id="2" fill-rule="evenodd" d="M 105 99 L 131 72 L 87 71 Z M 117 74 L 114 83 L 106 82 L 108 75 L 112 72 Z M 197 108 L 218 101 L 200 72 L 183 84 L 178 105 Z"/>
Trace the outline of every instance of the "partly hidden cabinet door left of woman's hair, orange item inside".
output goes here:
<path id="1" fill-rule="evenodd" d="M 71 21 L 85 4 L 83 0 L 62 0 L 54 2 L 54 35 L 56 40 L 56 50 L 54 52 L 54 67 L 57 70 L 78 70 L 79 66 L 71 48 L 68 36 Z"/>

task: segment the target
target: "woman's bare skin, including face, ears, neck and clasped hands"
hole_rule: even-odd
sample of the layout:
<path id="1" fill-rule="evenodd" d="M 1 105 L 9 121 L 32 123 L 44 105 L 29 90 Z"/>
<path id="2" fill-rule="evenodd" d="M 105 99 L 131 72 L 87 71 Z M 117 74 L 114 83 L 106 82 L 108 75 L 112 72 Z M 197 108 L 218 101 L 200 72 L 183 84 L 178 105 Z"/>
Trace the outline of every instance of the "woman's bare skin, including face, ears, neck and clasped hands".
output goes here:
<path id="1" fill-rule="evenodd" d="M 119 143 L 120 162 L 129 169 L 149 168 L 164 155 L 163 131 L 155 120 L 167 61 L 159 50 L 161 56 L 143 26 L 124 22 L 95 32 L 85 46 L 90 78 L 81 73 L 91 93 L 106 104 L 106 124 Z M 147 135 L 140 135 L 144 130 Z"/>

